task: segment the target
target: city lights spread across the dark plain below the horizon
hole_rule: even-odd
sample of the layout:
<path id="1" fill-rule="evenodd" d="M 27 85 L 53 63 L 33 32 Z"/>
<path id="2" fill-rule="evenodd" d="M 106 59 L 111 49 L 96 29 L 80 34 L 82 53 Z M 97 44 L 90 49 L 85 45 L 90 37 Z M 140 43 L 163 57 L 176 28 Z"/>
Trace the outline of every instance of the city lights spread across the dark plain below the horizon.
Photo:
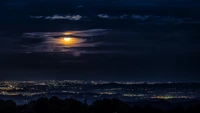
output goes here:
<path id="1" fill-rule="evenodd" d="M 199 83 L 109 82 L 82 80 L 3 81 L 0 97 L 18 104 L 40 97 L 87 99 L 119 98 L 122 101 L 155 99 L 199 99 Z"/>

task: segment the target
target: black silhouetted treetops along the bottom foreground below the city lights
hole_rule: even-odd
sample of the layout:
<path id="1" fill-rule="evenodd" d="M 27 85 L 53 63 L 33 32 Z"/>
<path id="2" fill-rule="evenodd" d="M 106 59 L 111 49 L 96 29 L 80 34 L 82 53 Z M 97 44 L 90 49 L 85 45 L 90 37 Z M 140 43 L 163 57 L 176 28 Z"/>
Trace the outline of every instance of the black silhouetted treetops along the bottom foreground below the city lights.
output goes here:
<path id="1" fill-rule="evenodd" d="M 194 100 L 191 103 L 194 103 Z M 118 99 L 96 100 L 92 105 L 74 99 L 58 99 L 57 97 L 40 98 L 25 105 L 17 106 L 12 100 L 0 100 L 0 113 L 199 113 L 200 101 L 184 108 L 182 104 L 173 109 L 160 109 L 152 107 L 153 103 L 168 103 L 164 100 L 157 102 L 143 102 L 144 105 L 130 105 Z M 166 104 L 167 106 L 167 104 Z"/>

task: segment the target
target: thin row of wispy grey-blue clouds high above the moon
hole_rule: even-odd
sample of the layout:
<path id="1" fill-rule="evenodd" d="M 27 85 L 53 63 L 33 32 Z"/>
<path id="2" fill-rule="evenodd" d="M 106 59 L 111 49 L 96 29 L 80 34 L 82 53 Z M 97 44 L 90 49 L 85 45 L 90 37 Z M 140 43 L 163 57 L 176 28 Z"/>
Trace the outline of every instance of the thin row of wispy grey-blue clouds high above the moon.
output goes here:
<path id="1" fill-rule="evenodd" d="M 53 15 L 53 16 L 30 16 L 33 19 L 46 19 L 46 20 L 70 20 L 70 21 L 79 21 L 79 20 L 91 20 L 96 21 L 95 16 L 81 16 L 77 15 Z M 131 20 L 137 22 L 149 22 L 149 23 L 199 23 L 195 18 L 187 17 L 173 17 L 173 16 L 157 16 L 157 15 L 139 15 L 139 14 L 122 14 L 122 15 L 109 15 L 109 14 L 98 14 L 96 15 L 99 19 L 105 20 Z"/>

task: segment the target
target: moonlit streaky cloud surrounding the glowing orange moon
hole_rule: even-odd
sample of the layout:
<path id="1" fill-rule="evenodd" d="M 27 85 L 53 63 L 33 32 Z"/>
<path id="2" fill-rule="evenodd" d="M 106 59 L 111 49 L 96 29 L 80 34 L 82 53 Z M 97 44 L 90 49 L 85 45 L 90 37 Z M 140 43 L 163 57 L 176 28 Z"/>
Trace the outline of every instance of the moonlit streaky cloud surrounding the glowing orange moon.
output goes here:
<path id="1" fill-rule="evenodd" d="M 77 52 L 87 51 L 85 47 L 94 47 L 99 43 L 97 36 L 104 35 L 105 29 L 89 29 L 65 32 L 29 32 L 22 35 L 21 42 L 25 52 Z"/>

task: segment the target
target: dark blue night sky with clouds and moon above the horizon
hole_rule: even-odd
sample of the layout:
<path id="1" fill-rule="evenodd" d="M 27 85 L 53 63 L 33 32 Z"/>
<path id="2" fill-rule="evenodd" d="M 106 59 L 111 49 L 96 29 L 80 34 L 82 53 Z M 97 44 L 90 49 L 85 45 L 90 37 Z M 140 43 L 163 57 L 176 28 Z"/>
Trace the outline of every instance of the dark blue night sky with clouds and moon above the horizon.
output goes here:
<path id="1" fill-rule="evenodd" d="M 0 80 L 200 82 L 199 0 L 6 0 L 0 14 Z"/>

